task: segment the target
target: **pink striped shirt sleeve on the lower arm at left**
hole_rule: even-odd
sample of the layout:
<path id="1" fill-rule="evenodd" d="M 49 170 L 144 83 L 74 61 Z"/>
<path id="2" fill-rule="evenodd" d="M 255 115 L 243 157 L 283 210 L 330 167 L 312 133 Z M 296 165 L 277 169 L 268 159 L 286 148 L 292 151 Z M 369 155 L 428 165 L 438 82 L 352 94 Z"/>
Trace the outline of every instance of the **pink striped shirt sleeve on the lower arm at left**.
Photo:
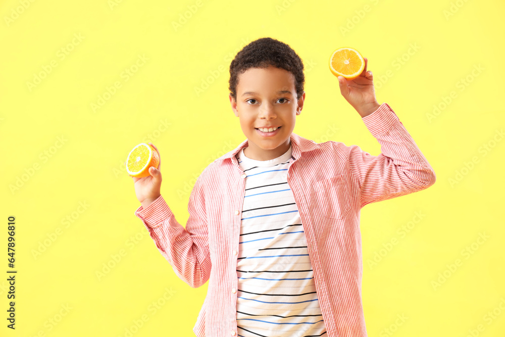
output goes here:
<path id="1" fill-rule="evenodd" d="M 191 287 L 205 284 L 211 273 L 205 198 L 199 181 L 196 179 L 189 196 L 186 228 L 177 222 L 162 196 L 135 211 L 158 251 Z"/>

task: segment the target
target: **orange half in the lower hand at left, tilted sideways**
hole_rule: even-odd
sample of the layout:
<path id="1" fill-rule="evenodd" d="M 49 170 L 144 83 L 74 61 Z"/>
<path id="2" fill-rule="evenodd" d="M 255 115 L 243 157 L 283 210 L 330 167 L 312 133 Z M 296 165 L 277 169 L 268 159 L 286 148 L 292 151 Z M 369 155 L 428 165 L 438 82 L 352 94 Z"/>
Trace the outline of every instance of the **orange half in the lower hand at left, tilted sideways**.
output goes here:
<path id="1" fill-rule="evenodd" d="M 149 144 L 140 143 L 130 151 L 126 158 L 126 172 L 132 177 L 148 177 L 149 167 L 158 168 L 160 157 L 155 148 Z"/>

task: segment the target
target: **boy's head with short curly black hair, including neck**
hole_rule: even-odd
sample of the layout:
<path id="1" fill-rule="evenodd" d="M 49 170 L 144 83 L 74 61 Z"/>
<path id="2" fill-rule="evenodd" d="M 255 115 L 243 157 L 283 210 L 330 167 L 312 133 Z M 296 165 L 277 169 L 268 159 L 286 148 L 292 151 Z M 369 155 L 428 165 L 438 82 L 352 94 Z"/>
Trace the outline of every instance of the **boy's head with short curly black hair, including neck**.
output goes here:
<path id="1" fill-rule="evenodd" d="M 270 160 L 290 146 L 305 100 L 304 65 L 291 47 L 265 37 L 250 42 L 230 64 L 229 99 L 248 139 L 247 157 Z M 279 127 L 265 133 L 263 127 Z"/>

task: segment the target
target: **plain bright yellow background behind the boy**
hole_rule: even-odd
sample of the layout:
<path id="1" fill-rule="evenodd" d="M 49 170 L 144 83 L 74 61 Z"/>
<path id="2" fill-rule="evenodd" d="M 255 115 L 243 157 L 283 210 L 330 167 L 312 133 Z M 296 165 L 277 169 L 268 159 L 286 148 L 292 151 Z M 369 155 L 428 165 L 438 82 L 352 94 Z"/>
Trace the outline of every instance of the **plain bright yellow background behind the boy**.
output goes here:
<path id="1" fill-rule="evenodd" d="M 191 288 L 159 254 L 134 215 L 140 204 L 122 163 L 139 142 L 157 145 L 162 195 L 185 225 L 195 178 L 245 139 L 228 101 L 230 61 L 270 36 L 306 65 L 295 133 L 380 153 L 328 69 L 333 50 L 355 47 L 369 59 L 378 102 L 437 176 L 361 212 L 368 334 L 503 336 L 504 10 L 497 0 L 2 2 L 0 335 L 194 335 L 207 284 Z M 139 56 L 148 60 L 135 68 Z M 125 69 L 136 71 L 127 81 Z M 108 100 L 93 111 L 99 96 Z M 9 216 L 15 330 L 6 327 Z M 375 253 L 383 256 L 370 266 Z M 439 273 L 447 277 L 433 285 Z"/>

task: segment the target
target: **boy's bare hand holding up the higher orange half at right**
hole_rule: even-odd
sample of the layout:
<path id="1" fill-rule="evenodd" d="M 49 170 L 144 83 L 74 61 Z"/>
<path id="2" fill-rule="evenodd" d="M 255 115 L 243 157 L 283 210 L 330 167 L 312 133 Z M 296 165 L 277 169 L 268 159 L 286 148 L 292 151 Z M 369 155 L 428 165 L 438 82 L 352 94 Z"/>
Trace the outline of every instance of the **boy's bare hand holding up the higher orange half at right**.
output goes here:
<path id="1" fill-rule="evenodd" d="M 343 76 L 338 76 L 340 93 L 349 104 L 358 111 L 363 118 L 370 115 L 380 106 L 375 98 L 373 75 L 367 71 L 368 59 L 365 59 L 365 69 L 360 76 L 348 80 Z"/>

